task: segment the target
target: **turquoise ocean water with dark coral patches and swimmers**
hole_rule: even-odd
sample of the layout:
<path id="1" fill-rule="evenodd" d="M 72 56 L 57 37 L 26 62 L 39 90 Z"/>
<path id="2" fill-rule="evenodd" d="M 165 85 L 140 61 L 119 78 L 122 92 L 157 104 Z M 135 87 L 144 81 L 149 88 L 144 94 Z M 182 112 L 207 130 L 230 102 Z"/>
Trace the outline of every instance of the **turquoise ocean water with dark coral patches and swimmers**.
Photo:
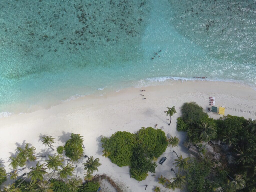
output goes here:
<path id="1" fill-rule="evenodd" d="M 166 79 L 255 88 L 255 59 L 256 1 L 0 1 L 0 116 Z"/>

